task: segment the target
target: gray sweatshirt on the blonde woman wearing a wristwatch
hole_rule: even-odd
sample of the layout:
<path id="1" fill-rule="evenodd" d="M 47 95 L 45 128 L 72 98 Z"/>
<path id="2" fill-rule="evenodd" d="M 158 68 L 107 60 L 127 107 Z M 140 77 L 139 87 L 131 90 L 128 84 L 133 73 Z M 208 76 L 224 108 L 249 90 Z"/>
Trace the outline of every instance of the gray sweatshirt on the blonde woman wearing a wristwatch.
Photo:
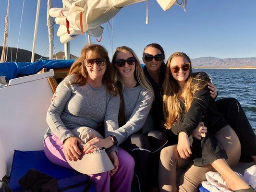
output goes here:
<path id="1" fill-rule="evenodd" d="M 131 134 L 144 125 L 153 101 L 153 95 L 141 85 L 122 91 L 125 108 L 125 125 L 113 131 L 118 144 L 122 144 Z"/>

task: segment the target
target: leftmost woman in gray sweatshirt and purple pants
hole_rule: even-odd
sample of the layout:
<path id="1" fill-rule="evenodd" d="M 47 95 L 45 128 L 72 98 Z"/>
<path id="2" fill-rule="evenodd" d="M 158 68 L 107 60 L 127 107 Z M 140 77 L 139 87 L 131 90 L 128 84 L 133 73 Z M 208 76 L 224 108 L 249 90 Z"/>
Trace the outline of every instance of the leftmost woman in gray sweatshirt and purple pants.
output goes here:
<path id="1" fill-rule="evenodd" d="M 58 85 L 56 97 L 47 112 L 49 129 L 44 136 L 45 154 L 53 163 L 71 168 L 64 154 L 73 161 L 80 160 L 82 155 L 77 146 L 82 141 L 71 131 L 77 127 L 98 131 L 99 125 L 104 123 L 105 138 L 91 139 L 85 144 L 84 153 L 95 150 L 97 142 L 97 147 L 107 149 L 114 169 L 89 176 L 98 192 L 130 192 L 134 160 L 126 151 L 117 148 L 111 134 L 119 127 L 120 103 L 113 78 L 106 49 L 100 45 L 86 45 L 69 75 Z"/>

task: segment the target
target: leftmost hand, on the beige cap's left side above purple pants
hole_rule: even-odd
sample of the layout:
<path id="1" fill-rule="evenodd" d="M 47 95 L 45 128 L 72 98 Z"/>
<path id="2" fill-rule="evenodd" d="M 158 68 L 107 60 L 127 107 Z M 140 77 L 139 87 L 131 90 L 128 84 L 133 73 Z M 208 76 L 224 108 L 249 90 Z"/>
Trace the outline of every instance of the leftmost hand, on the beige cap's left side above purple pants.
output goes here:
<path id="1" fill-rule="evenodd" d="M 77 144 L 83 144 L 83 142 L 75 136 L 69 137 L 64 141 L 64 153 L 68 156 L 70 161 L 81 160 L 81 151 Z"/>

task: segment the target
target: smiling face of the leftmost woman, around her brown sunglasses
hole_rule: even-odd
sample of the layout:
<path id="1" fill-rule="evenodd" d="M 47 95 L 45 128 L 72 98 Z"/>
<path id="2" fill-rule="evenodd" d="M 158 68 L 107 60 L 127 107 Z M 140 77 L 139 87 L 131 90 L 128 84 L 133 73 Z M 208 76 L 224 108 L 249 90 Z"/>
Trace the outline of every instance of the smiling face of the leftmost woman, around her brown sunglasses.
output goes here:
<path id="1" fill-rule="evenodd" d="M 102 56 L 97 51 L 88 51 L 86 53 L 86 59 L 96 59 L 96 58 L 102 58 Z M 107 65 L 104 66 L 98 66 L 96 63 L 93 64 L 91 67 L 86 67 L 86 70 L 88 72 L 88 78 L 91 80 L 96 81 L 102 81 L 102 77 L 106 71 Z"/>

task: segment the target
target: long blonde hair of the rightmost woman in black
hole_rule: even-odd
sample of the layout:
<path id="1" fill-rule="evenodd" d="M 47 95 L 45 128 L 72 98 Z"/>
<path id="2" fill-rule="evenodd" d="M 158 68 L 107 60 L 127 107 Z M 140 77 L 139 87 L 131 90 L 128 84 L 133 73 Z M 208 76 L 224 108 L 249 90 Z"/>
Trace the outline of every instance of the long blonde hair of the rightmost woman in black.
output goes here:
<path id="1" fill-rule="evenodd" d="M 182 108 L 180 105 L 178 92 L 179 92 L 179 84 L 173 78 L 170 70 L 170 63 L 172 58 L 175 57 L 183 57 L 191 63 L 190 58 L 183 52 L 175 52 L 171 54 L 167 61 L 166 70 L 165 70 L 165 79 L 163 83 L 163 103 L 164 103 L 164 117 L 165 123 L 164 126 L 166 129 L 171 129 L 173 123 L 179 122 L 181 120 Z M 207 81 L 204 81 L 200 78 L 200 76 L 193 76 L 192 66 L 190 65 L 189 76 L 186 79 L 186 83 L 184 86 L 184 99 L 185 99 L 185 111 L 191 107 L 192 100 L 196 91 L 205 88 L 207 85 Z M 199 98 L 196 98 L 199 99 Z"/>

